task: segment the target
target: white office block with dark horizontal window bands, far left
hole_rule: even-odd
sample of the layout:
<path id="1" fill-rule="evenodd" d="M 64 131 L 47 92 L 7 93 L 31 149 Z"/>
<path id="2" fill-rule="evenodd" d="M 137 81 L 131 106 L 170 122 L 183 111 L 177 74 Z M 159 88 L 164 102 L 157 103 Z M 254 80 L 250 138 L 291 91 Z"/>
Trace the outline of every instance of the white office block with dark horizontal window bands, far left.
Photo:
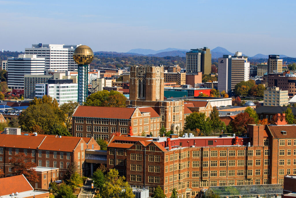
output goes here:
<path id="1" fill-rule="evenodd" d="M 45 59 L 37 55 L 20 54 L 18 58 L 7 59 L 7 85 L 12 89 L 24 88 L 25 75 L 42 75 L 45 69 Z"/>

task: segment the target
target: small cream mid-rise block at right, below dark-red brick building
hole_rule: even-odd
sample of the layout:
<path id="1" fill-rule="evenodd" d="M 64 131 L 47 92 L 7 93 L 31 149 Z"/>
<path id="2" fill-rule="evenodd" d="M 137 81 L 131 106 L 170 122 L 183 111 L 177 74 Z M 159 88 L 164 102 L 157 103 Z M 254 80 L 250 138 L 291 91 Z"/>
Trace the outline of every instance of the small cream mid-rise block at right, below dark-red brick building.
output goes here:
<path id="1" fill-rule="evenodd" d="M 279 87 L 267 87 L 264 90 L 264 106 L 284 106 L 288 105 L 288 91 L 283 91 Z"/>

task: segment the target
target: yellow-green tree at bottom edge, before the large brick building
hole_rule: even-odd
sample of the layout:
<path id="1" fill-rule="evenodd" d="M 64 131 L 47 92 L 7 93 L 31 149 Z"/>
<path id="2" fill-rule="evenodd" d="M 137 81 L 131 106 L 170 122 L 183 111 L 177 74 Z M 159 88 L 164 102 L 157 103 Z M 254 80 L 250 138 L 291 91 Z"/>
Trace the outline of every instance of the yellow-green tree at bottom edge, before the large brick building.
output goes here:
<path id="1" fill-rule="evenodd" d="M 134 198 L 135 195 L 131 186 L 124 180 L 124 176 L 118 176 L 118 170 L 110 169 L 106 175 L 106 181 L 100 190 L 101 197 Z"/>

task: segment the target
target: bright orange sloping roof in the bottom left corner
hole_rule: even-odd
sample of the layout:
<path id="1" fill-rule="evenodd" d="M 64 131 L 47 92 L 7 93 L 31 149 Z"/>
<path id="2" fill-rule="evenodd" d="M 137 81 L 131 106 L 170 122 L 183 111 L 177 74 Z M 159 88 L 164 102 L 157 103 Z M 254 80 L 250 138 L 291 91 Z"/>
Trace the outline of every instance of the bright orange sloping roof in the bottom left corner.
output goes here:
<path id="1" fill-rule="evenodd" d="M 0 178 L 0 196 L 34 190 L 24 175 Z M 14 196 L 17 197 L 17 196 Z"/>

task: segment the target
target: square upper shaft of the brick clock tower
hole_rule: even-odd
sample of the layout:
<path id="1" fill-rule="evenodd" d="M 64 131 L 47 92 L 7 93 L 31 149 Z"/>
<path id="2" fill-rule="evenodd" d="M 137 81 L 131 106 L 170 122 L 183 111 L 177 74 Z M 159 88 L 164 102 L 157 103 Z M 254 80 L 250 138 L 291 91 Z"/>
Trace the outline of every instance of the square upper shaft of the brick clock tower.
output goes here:
<path id="1" fill-rule="evenodd" d="M 163 101 L 163 66 L 131 66 L 131 101 Z"/>

